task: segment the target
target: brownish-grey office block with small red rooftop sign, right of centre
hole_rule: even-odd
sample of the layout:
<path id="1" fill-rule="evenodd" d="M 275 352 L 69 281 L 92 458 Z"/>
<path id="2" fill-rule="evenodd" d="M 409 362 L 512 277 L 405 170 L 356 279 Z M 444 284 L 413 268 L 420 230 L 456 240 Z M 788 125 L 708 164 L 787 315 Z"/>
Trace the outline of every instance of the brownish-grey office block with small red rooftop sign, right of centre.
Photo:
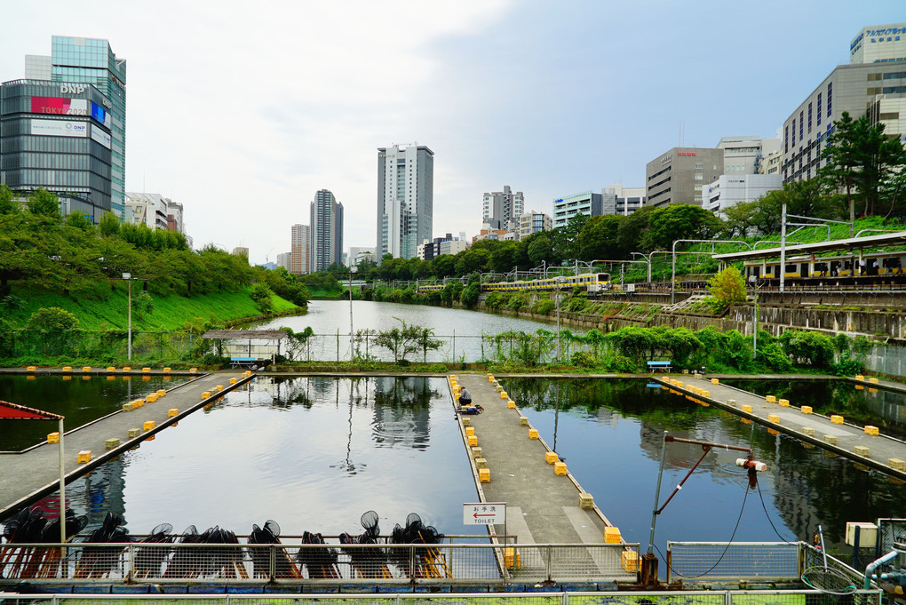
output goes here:
<path id="1" fill-rule="evenodd" d="M 724 173 L 724 150 L 674 147 L 645 165 L 646 206 L 701 206 L 701 189 Z"/>

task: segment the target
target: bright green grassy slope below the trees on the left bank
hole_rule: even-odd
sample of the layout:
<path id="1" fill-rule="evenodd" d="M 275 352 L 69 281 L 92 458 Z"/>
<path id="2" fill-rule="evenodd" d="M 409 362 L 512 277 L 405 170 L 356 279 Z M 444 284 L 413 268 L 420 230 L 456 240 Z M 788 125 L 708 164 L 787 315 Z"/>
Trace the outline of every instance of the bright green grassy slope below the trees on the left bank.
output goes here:
<path id="1" fill-rule="evenodd" d="M 133 294 L 137 288 L 133 286 Z M 214 322 L 229 322 L 245 317 L 255 317 L 261 312 L 249 296 L 251 288 L 234 293 L 199 294 L 183 296 L 155 296 L 154 310 L 139 319 L 132 313 L 133 330 L 176 330 L 186 322 L 200 317 Z M 60 307 L 79 318 L 82 330 L 125 330 L 128 323 L 127 292 L 125 284 L 118 284 L 106 300 L 72 299 L 43 290 L 18 291 L 24 306 L 14 311 L 4 310 L 4 316 L 18 327 L 24 327 L 32 313 L 42 307 Z M 273 297 L 275 312 L 290 312 L 297 307 L 277 295 Z"/>

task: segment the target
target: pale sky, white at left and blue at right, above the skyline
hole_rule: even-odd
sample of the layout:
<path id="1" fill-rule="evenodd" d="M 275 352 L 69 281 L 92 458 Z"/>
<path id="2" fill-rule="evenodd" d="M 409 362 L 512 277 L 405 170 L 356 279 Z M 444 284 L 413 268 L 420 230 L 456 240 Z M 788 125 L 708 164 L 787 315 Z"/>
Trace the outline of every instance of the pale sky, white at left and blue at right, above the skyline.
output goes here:
<path id="1" fill-rule="evenodd" d="M 51 36 L 127 60 L 126 189 L 185 208 L 197 248 L 290 249 L 318 189 L 344 252 L 375 245 L 377 149 L 434 151 L 434 235 L 612 183 L 682 142 L 776 136 L 864 25 L 902 0 L 0 0 L 0 82 Z M 681 140 L 680 140 L 681 137 Z"/>

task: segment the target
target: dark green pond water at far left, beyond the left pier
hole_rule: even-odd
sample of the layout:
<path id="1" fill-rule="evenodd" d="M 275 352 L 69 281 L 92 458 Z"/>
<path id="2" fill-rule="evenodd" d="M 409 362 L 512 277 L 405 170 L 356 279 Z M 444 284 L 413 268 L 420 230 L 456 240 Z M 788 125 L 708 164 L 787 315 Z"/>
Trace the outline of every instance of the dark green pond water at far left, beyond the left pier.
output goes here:
<path id="1" fill-rule="evenodd" d="M 166 376 L 0 375 L 0 399 L 66 417 L 66 431 L 122 408 L 122 404 L 186 381 Z M 47 439 L 56 420 L 0 422 L 0 451 L 18 451 Z"/>

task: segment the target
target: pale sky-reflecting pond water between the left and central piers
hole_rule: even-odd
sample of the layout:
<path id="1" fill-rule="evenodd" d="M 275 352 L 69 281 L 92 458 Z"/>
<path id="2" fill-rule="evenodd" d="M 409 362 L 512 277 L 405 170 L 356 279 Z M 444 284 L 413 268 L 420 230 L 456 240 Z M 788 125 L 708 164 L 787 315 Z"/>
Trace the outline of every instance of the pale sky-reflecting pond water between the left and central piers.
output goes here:
<path id="1" fill-rule="evenodd" d="M 165 522 L 248 533 L 275 519 L 284 535 L 327 535 L 361 533 L 370 509 L 385 533 L 412 512 L 467 533 L 462 504 L 477 494 L 445 379 L 258 377 L 67 497 L 91 523 L 122 514 L 131 533 Z"/>

